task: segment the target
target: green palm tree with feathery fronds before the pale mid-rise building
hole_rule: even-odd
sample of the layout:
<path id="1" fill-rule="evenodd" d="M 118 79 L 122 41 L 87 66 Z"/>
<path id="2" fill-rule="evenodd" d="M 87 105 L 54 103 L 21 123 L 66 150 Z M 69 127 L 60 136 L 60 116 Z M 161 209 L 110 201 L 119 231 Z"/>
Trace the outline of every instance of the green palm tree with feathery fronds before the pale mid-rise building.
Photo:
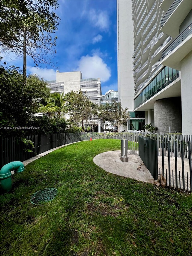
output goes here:
<path id="1" fill-rule="evenodd" d="M 52 93 L 46 107 L 49 112 L 58 113 L 58 117 L 60 118 L 61 113 L 65 113 L 65 100 L 63 98 L 63 93 L 61 95 L 58 92 Z"/>

